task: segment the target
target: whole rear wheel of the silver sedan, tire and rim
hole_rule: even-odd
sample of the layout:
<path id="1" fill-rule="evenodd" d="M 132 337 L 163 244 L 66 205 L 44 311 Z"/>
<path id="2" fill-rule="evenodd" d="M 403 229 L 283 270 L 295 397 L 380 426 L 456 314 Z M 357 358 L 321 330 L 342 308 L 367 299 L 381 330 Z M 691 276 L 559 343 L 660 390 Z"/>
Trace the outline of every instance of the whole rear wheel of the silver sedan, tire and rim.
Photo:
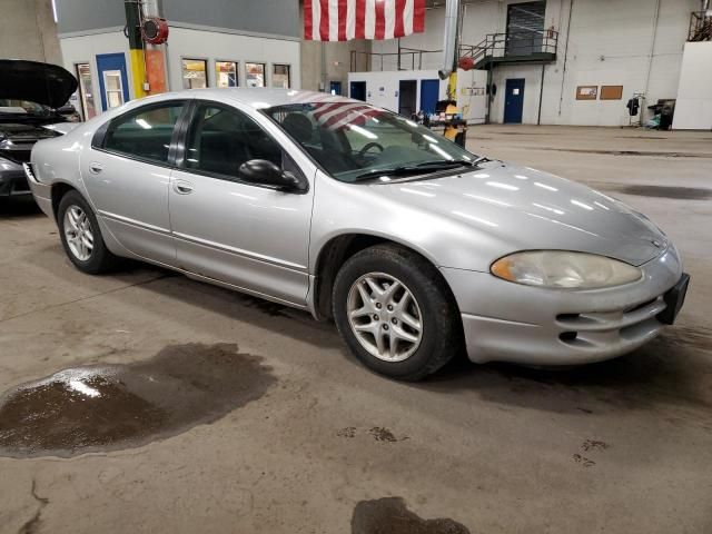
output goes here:
<path id="1" fill-rule="evenodd" d="M 78 191 L 61 198 L 57 221 L 65 253 L 79 270 L 98 275 L 117 266 L 118 258 L 103 243 L 97 217 Z"/>

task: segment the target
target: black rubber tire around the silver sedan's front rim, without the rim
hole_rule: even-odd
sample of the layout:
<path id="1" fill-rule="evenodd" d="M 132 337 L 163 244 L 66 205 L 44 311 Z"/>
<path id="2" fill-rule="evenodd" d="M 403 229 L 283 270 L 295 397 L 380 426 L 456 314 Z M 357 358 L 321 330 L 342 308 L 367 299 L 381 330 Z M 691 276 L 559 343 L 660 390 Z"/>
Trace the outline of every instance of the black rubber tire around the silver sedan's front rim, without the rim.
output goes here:
<path id="1" fill-rule="evenodd" d="M 387 362 L 370 354 L 350 327 L 349 290 L 369 273 L 383 273 L 400 280 L 418 303 L 421 342 L 402 362 Z M 334 283 L 332 307 L 338 332 L 352 353 L 372 370 L 399 380 L 419 380 L 435 373 L 463 344 L 459 312 L 439 271 L 424 257 L 396 245 L 376 245 L 352 256 Z"/>

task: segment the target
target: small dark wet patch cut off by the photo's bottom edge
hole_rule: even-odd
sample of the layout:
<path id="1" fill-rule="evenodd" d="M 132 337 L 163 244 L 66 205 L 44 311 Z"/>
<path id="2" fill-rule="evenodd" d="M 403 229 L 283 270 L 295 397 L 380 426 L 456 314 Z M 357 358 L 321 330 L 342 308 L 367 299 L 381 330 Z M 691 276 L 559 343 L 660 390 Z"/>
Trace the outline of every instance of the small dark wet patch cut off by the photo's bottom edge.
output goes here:
<path id="1" fill-rule="evenodd" d="M 453 520 L 423 520 L 411 512 L 403 498 L 362 501 L 354 508 L 352 534 L 469 534 Z"/>

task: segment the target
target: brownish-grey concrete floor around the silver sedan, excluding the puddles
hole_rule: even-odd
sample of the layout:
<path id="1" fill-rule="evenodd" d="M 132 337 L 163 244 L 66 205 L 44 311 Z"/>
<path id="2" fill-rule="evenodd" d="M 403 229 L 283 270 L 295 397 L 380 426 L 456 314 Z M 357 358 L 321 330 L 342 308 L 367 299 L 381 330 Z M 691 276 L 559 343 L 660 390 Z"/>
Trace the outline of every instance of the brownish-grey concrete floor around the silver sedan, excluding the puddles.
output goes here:
<path id="1" fill-rule="evenodd" d="M 270 378 L 135 448 L 0 458 L 0 532 L 712 532 L 712 134 L 493 126 L 469 138 L 659 222 L 692 274 L 679 324 L 574 370 L 457 362 L 399 384 L 306 314 L 149 267 L 81 275 L 52 222 L 6 205 L 0 390 L 88 364 L 150 370 L 159 353 L 217 343 L 259 356 Z"/>

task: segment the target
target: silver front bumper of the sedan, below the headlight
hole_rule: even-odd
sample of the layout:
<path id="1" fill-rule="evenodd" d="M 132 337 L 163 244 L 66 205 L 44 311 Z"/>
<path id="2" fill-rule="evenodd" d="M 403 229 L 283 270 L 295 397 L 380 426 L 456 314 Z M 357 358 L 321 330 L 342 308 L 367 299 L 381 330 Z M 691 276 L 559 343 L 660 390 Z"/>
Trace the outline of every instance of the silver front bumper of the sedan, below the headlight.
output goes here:
<path id="1" fill-rule="evenodd" d="M 543 289 L 488 273 L 441 271 L 462 313 L 469 359 L 573 365 L 621 356 L 660 334 L 673 291 L 666 293 L 679 281 L 686 289 L 682 263 L 671 245 L 641 269 L 641 281 L 595 290 Z"/>

